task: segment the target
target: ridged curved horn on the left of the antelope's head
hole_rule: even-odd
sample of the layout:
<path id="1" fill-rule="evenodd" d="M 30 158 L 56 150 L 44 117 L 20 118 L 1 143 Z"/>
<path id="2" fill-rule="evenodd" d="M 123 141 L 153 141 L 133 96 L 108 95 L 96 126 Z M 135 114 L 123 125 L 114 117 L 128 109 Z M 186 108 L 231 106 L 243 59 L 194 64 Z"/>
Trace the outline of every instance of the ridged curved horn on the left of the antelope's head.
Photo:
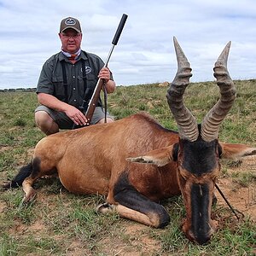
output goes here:
<path id="1" fill-rule="evenodd" d="M 194 142 L 199 135 L 197 123 L 195 117 L 183 104 L 183 94 L 189 85 L 189 78 L 192 76 L 191 68 L 175 37 L 173 43 L 177 55 L 177 73 L 167 91 L 167 102 L 177 122 L 179 136 Z"/>

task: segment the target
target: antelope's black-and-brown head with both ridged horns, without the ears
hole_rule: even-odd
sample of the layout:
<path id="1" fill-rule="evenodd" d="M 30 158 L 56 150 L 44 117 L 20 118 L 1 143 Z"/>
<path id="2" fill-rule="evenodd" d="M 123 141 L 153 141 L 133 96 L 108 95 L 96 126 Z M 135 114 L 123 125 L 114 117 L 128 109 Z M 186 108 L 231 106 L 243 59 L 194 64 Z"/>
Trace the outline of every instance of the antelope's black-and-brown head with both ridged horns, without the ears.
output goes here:
<path id="1" fill-rule="evenodd" d="M 177 180 L 186 208 L 183 231 L 191 241 L 207 242 L 216 229 L 211 219 L 213 189 L 220 171 L 222 148 L 218 143 L 221 122 L 236 98 L 227 59 L 230 43 L 226 45 L 215 63 L 214 77 L 220 90 L 220 99 L 198 125 L 195 117 L 183 104 L 183 94 L 192 76 L 189 61 L 174 38 L 177 55 L 177 74 L 166 97 L 177 122 Z"/>

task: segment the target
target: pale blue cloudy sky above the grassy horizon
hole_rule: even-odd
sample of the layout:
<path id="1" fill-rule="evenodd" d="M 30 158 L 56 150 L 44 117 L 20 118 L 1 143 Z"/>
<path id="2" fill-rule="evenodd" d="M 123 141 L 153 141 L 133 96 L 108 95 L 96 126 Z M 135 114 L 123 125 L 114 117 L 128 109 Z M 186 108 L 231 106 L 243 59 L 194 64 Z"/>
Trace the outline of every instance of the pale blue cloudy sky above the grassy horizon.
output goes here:
<path id="1" fill-rule="evenodd" d="M 232 79 L 256 78 L 255 0 L 0 0 L 0 89 L 34 88 L 44 61 L 59 52 L 61 20 L 79 19 L 82 49 L 106 61 L 122 15 L 128 15 L 108 67 L 117 85 L 172 82 L 173 37 L 192 67 L 191 82 L 213 81 L 231 41 Z"/>

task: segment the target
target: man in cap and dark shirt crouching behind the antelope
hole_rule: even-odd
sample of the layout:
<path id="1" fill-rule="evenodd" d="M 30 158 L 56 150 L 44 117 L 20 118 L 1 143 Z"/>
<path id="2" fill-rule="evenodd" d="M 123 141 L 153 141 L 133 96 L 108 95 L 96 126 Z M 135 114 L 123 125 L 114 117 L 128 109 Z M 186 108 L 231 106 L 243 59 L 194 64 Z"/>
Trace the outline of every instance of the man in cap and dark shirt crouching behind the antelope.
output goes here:
<path id="1" fill-rule="evenodd" d="M 115 90 L 115 82 L 100 57 L 81 50 L 82 30 L 79 20 L 67 17 L 61 20 L 59 38 L 61 52 L 44 63 L 38 79 L 38 102 L 35 120 L 46 135 L 59 129 L 85 125 L 87 119 L 79 110 L 86 97 L 92 95 L 97 80 L 103 79 L 108 93 Z M 99 100 L 91 124 L 103 123 L 105 113 Z M 108 115 L 107 122 L 113 122 Z"/>

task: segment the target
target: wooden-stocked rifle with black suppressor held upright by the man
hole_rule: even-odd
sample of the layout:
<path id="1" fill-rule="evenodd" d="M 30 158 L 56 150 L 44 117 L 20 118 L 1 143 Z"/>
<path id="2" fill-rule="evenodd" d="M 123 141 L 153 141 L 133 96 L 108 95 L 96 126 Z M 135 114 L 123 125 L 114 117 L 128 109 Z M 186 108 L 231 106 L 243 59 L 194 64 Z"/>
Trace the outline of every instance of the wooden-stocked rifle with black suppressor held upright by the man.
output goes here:
<path id="1" fill-rule="evenodd" d="M 123 28 L 125 26 L 125 21 L 127 19 L 128 15 L 125 15 L 123 14 L 120 22 L 119 22 L 119 26 L 117 28 L 117 31 L 115 32 L 114 34 L 114 37 L 113 37 L 113 41 L 112 41 L 112 47 L 108 53 L 108 57 L 107 57 L 107 60 L 105 61 L 105 65 L 104 67 L 108 67 L 108 61 L 110 59 L 110 56 L 112 55 L 113 53 L 113 48 L 114 46 L 118 43 L 119 41 L 119 37 L 120 37 L 120 34 L 121 32 L 123 31 Z M 82 103 L 82 105 L 79 107 L 79 110 L 84 113 L 86 119 L 87 119 L 87 123 L 86 123 L 86 126 L 90 125 L 90 121 L 91 121 L 91 118 L 92 118 L 92 115 L 94 113 L 94 110 L 96 108 L 96 104 L 98 102 L 98 99 L 100 97 L 100 93 L 101 93 L 101 90 L 102 90 L 102 86 L 104 84 L 104 80 L 103 79 L 98 79 L 97 83 L 96 83 L 96 87 L 95 87 L 95 90 L 93 91 L 93 94 L 92 96 L 90 97 L 90 89 L 86 89 L 85 90 L 85 93 L 84 93 L 84 101 Z M 75 125 L 73 124 L 73 128 L 72 129 L 76 129 L 76 128 L 79 128 L 80 126 L 79 125 Z"/>

